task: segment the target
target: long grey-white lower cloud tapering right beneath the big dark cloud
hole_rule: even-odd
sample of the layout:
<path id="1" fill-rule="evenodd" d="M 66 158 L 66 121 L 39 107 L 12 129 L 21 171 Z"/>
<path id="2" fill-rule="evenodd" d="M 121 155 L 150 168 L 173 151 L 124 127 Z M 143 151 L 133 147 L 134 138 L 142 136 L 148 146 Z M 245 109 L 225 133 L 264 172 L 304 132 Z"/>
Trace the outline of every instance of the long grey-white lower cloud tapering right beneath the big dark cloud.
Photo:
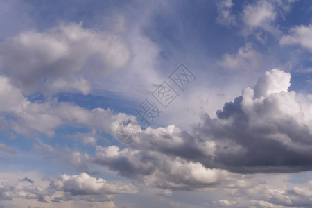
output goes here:
<path id="1" fill-rule="evenodd" d="M 117 146 L 97 146 L 94 162 L 108 166 L 124 177 L 163 189 L 200 190 L 248 185 L 240 184 L 239 175 L 205 168 L 198 162 L 188 162 L 181 157 L 155 150 L 120 150 Z"/>

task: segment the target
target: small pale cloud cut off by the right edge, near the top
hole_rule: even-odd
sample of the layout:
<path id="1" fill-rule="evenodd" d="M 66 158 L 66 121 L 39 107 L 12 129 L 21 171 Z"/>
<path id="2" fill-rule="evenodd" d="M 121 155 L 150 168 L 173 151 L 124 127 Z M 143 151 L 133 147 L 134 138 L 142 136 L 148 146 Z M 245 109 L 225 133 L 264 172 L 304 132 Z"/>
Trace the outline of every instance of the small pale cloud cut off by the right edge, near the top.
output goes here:
<path id="1" fill-rule="evenodd" d="M 289 35 L 283 35 L 279 40 L 281 45 L 300 45 L 302 48 L 312 51 L 312 24 L 309 26 L 295 26 L 289 31 Z"/>

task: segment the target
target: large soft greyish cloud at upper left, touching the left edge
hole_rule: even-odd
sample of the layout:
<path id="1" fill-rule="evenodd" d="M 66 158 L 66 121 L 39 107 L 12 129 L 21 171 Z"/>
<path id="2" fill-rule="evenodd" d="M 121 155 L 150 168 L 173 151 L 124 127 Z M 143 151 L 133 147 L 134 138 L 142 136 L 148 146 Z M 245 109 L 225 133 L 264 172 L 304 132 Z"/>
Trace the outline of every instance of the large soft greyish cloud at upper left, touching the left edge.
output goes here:
<path id="1" fill-rule="evenodd" d="M 124 67 L 130 49 L 121 37 L 62 24 L 24 31 L 0 44 L 0 67 L 24 93 L 89 93 L 90 79 Z M 86 71 L 87 70 L 87 71 Z"/>

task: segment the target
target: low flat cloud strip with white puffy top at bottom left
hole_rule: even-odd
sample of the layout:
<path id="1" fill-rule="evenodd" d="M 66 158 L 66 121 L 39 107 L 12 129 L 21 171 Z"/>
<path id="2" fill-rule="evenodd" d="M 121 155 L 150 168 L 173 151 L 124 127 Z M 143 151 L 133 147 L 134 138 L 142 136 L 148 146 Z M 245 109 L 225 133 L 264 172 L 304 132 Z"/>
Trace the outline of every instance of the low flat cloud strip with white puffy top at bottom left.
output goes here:
<path id="1" fill-rule="evenodd" d="M 13 198 L 35 199 L 49 203 L 62 200 L 84 200 L 89 202 L 105 202 L 114 200 L 116 194 L 135 194 L 137 188 L 129 183 L 95 178 L 87 173 L 79 175 L 60 175 L 50 180 L 46 186 L 38 185 L 28 178 L 19 182 L 0 182 L 0 201 Z"/>

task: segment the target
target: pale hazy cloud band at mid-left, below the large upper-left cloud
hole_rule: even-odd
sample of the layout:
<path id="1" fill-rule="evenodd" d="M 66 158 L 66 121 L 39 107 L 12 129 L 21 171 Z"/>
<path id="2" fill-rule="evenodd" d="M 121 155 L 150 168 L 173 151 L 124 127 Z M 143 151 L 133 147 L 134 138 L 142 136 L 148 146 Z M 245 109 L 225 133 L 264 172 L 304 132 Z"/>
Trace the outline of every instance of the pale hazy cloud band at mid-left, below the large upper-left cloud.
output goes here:
<path id="1" fill-rule="evenodd" d="M 111 133 L 116 123 L 131 117 L 123 113 L 114 114 L 110 109 L 86 110 L 72 103 L 58 102 L 57 99 L 32 103 L 5 76 L 0 76 L 0 104 L 0 115 L 3 115 L 0 120 L 9 129 L 26 136 L 40 132 L 52 137 L 55 128 L 64 124 L 86 125 L 91 130 Z M 4 115 L 14 119 L 6 119 Z"/>

